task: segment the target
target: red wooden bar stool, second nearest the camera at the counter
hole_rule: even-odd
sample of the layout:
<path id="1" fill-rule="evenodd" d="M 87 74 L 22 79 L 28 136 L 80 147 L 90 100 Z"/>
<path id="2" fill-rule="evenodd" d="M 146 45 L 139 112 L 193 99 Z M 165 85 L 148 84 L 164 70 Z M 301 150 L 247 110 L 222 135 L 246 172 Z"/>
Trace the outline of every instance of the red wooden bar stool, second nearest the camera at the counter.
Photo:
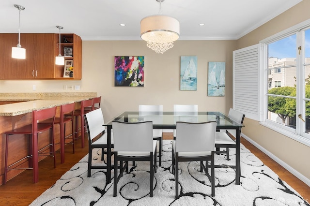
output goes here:
<path id="1" fill-rule="evenodd" d="M 75 109 L 75 103 L 69 103 L 69 104 L 63 104 L 60 106 L 60 117 L 55 118 L 54 124 L 58 124 L 60 126 L 60 144 L 61 144 L 61 162 L 64 162 L 64 145 L 65 140 L 72 136 L 72 147 L 73 147 L 73 153 L 74 151 L 74 130 L 73 130 L 73 113 Z M 52 124 L 53 119 L 47 119 L 45 121 L 42 121 L 40 123 L 49 123 Z M 71 121 L 71 131 L 72 133 L 69 134 L 67 137 L 65 135 L 66 131 L 66 123 Z"/>

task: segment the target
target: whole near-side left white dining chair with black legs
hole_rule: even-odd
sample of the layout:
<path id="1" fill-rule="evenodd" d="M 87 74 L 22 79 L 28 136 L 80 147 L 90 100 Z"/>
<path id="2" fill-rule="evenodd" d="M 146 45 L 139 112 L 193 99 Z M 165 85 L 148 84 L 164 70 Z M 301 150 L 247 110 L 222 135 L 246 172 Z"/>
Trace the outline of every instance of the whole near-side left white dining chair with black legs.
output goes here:
<path id="1" fill-rule="evenodd" d="M 143 122 L 112 122 L 114 134 L 114 190 L 116 197 L 117 184 L 123 176 L 125 168 L 128 168 L 128 161 L 150 162 L 150 197 L 153 197 L 153 180 L 156 172 L 156 144 L 153 139 L 152 121 Z M 117 175 L 117 164 L 125 162 Z"/>

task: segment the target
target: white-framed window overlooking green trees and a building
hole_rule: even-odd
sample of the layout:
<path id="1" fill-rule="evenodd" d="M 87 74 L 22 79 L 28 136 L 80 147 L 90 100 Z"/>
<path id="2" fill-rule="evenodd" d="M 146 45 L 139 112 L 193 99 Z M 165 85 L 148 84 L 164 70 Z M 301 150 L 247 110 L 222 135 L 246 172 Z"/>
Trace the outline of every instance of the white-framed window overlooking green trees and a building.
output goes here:
<path id="1" fill-rule="evenodd" d="M 264 122 L 310 143 L 310 27 L 264 43 Z M 275 69 L 276 68 L 276 69 Z M 270 71 L 274 71 L 271 72 Z M 270 81 L 274 82 L 270 87 Z"/>

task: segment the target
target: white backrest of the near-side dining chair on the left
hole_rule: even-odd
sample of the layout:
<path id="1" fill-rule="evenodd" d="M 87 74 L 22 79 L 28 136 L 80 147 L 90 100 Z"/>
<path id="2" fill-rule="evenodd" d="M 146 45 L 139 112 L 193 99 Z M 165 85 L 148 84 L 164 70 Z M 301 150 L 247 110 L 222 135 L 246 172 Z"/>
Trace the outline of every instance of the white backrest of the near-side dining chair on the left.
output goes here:
<path id="1" fill-rule="evenodd" d="M 114 151 L 153 151 L 153 123 L 112 122 Z"/>

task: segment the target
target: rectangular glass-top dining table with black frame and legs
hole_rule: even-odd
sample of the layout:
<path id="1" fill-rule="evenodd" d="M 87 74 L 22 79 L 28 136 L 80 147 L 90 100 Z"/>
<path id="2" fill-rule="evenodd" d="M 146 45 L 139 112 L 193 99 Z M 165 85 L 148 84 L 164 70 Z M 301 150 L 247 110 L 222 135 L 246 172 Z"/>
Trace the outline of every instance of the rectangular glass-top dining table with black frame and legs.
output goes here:
<path id="1" fill-rule="evenodd" d="M 234 121 L 222 112 L 147 112 L 141 113 L 139 111 L 125 111 L 109 121 L 105 122 L 104 126 L 107 130 L 107 182 L 111 181 L 111 169 L 114 167 L 111 165 L 111 131 L 112 122 L 141 122 L 152 121 L 153 129 L 162 130 L 175 130 L 176 122 L 207 122 L 217 121 L 217 130 L 235 130 L 236 131 L 236 158 L 234 165 L 216 165 L 215 167 L 231 167 L 235 168 L 235 184 L 240 185 L 240 134 L 241 128 L 244 126 L 241 123 Z"/>

